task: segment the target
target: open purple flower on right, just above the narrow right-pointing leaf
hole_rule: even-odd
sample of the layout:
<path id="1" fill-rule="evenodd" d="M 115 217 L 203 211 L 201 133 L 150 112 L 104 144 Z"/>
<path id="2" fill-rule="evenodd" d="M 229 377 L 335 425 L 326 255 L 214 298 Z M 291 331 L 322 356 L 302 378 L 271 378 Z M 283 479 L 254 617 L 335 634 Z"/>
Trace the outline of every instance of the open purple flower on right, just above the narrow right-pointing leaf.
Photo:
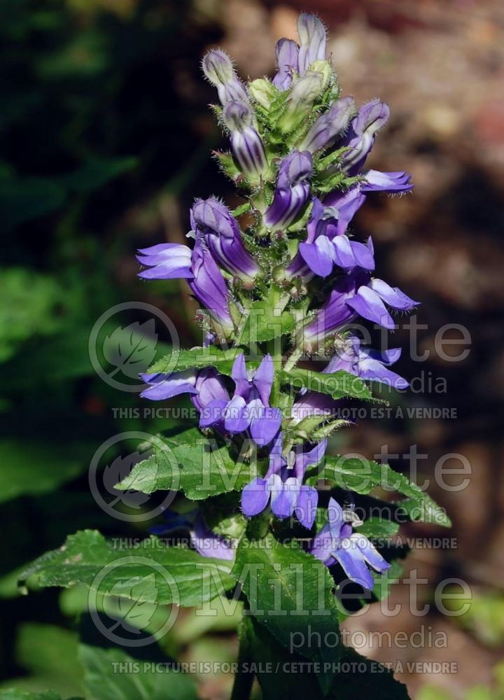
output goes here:
<path id="1" fill-rule="evenodd" d="M 363 349 L 360 347 L 360 339 L 355 335 L 350 335 L 344 340 L 342 346 L 332 356 L 329 364 L 323 371 L 337 372 L 338 370 L 345 370 L 345 372 L 355 374 L 356 377 L 361 377 L 362 379 L 381 381 L 388 386 L 405 389 L 409 386 L 409 382 L 386 367 L 386 365 L 395 363 L 400 358 L 400 354 L 400 348 L 386 350 L 384 353 L 367 348 Z"/>

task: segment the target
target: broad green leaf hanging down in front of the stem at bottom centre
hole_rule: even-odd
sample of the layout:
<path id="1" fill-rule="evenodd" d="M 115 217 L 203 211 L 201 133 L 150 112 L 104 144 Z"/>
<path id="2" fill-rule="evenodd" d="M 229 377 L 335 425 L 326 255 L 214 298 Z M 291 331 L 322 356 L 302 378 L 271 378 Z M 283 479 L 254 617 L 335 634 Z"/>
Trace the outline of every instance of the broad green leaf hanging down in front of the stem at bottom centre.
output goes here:
<path id="1" fill-rule="evenodd" d="M 241 540 L 233 572 L 248 598 L 251 614 L 286 648 L 329 664 L 318 682 L 327 691 L 339 658 L 338 612 L 334 582 L 321 561 L 282 545 L 272 535 Z M 311 634 L 309 634 L 311 632 Z M 330 641 L 330 643 L 329 643 Z"/>

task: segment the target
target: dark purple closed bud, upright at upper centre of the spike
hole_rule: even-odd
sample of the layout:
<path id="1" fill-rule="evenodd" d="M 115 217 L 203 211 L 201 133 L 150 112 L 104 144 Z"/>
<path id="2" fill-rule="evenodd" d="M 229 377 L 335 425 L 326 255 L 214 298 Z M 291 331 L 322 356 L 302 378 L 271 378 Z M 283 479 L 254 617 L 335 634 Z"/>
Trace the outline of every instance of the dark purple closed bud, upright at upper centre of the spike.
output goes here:
<path id="1" fill-rule="evenodd" d="M 286 229 L 299 216 L 310 193 L 308 178 L 312 160 L 309 151 L 293 151 L 283 158 L 276 179 L 273 202 L 265 211 L 267 228 Z"/>

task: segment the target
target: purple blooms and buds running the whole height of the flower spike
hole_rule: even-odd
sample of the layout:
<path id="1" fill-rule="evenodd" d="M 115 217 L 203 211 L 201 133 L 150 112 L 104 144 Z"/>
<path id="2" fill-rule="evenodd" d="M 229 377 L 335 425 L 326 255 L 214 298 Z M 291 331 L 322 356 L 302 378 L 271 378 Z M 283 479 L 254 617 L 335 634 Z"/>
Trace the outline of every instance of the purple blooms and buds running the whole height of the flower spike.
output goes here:
<path id="1" fill-rule="evenodd" d="M 388 106 L 377 99 L 360 109 L 351 97 L 335 99 L 326 111 L 319 108 L 318 116 L 307 128 L 300 129 L 301 121 L 306 121 L 307 113 L 316 113 L 316 100 L 330 87 L 332 69 L 325 57 L 326 37 L 321 22 L 314 15 L 302 14 L 298 30 L 299 45 L 290 39 L 277 44 L 277 72 L 271 82 L 254 80 L 246 87 L 229 57 L 220 50 L 204 57 L 203 70 L 218 91 L 218 113 L 230 136 L 239 184 L 248 184 L 252 192 L 256 230 L 260 230 L 262 239 L 269 235 L 272 241 L 288 238 L 290 227 L 294 227 L 294 239 L 302 231 L 295 253 L 286 260 L 275 282 L 286 290 L 295 280 L 304 288 L 312 281 L 331 282 L 325 303 L 310 309 L 302 325 L 302 349 L 312 351 L 328 338 L 337 337 L 337 352 L 323 372 L 345 370 L 362 379 L 405 388 L 407 381 L 388 368 L 398 360 L 400 349 L 384 353 L 365 349 L 356 335 L 345 335 L 342 329 L 358 318 L 393 329 L 390 311 L 409 311 L 416 306 L 400 289 L 372 276 L 372 240 L 356 241 L 349 234 L 353 216 L 369 193 L 405 193 L 412 184 L 405 172 L 365 169 L 376 134 L 389 116 Z M 277 134 L 289 135 L 288 153 L 279 153 L 264 129 L 265 115 L 273 103 L 282 105 L 274 129 Z M 313 181 L 321 176 L 325 181 L 344 176 L 346 186 L 316 193 Z M 255 206 L 254 193 L 258 191 L 269 192 L 269 197 L 260 197 Z M 159 244 L 139 251 L 138 260 L 144 266 L 140 276 L 186 279 L 205 311 L 207 331 L 214 342 L 228 342 L 235 338 L 240 319 L 246 314 L 244 297 L 253 300 L 258 282 L 269 282 L 271 265 L 263 265 L 260 255 L 253 254 L 253 235 L 244 235 L 237 218 L 215 197 L 195 201 L 190 225 L 192 247 Z M 258 366 L 247 367 L 244 353 L 239 353 L 231 381 L 211 368 L 145 374 L 143 378 L 147 384 L 142 394 L 145 398 L 165 400 L 187 393 L 200 412 L 201 428 L 213 428 L 232 440 L 241 435 L 267 450 L 267 472 L 253 479 L 241 494 L 241 509 L 247 517 L 269 507 L 277 518 L 295 515 L 302 526 L 312 528 L 318 492 L 304 484 L 304 475 L 309 465 L 323 459 L 327 440 L 293 447 L 284 444 L 284 435 L 307 416 L 330 411 L 335 405 L 332 399 L 304 391 L 297 396 L 290 414 L 282 415 L 279 407 L 270 405 L 275 365 L 269 354 L 262 356 Z M 203 533 L 203 538 L 211 538 L 211 531 L 204 528 L 197 521 L 197 531 Z M 221 554 L 208 554 L 207 549 L 206 555 L 233 556 L 230 545 L 221 542 L 219 546 Z M 197 548 L 205 554 L 204 548 Z M 338 562 L 351 580 L 367 588 L 372 588 L 367 566 L 379 572 L 388 568 L 371 542 L 353 533 L 352 519 L 334 499 L 330 501 L 328 523 L 314 538 L 311 553 L 327 566 Z"/>

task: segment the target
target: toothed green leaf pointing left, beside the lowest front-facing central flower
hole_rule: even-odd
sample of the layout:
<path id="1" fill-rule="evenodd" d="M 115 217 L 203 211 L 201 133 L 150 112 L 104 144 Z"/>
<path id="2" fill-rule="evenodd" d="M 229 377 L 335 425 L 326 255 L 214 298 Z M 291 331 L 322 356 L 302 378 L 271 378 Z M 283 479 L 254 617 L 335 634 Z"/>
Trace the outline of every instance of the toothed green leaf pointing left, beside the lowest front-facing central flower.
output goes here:
<path id="1" fill-rule="evenodd" d="M 155 454 L 136 464 L 117 489 L 181 490 L 191 500 L 202 500 L 237 491 L 257 475 L 255 461 L 232 456 L 227 445 L 204 437 L 197 428 L 159 440 Z"/>

